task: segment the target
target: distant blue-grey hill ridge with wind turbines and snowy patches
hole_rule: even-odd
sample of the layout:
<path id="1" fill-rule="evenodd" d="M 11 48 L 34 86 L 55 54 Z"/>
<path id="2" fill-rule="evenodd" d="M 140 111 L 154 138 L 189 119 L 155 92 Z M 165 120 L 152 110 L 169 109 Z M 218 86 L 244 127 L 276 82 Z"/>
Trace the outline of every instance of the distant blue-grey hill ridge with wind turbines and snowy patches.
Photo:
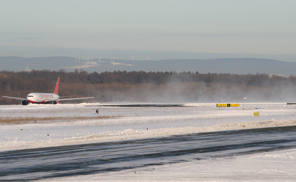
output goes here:
<path id="1" fill-rule="evenodd" d="M 237 74 L 296 74 L 296 62 L 284 62 L 257 58 L 221 58 L 221 59 L 174 59 L 174 60 L 119 60 L 111 63 L 111 59 L 89 60 L 74 57 L 0 57 L 0 70 L 21 71 L 29 69 L 47 69 L 66 71 L 83 69 L 87 72 L 104 72 L 114 70 L 126 71 L 191 71 L 199 73 L 237 73 Z"/>

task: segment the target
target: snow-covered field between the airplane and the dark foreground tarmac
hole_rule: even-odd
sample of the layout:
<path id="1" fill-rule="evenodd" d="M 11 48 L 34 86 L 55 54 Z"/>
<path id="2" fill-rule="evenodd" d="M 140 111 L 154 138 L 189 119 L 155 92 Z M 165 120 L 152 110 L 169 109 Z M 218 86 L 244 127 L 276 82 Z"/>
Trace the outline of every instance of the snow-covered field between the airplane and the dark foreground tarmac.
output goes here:
<path id="1" fill-rule="evenodd" d="M 0 151 L 296 125 L 296 105 L 286 103 L 245 103 L 245 110 L 242 103 L 223 110 L 215 103 L 185 104 L 190 107 L 99 105 L 0 106 L 0 121 L 28 119 L 0 123 Z M 253 117 L 253 112 L 260 116 Z"/>

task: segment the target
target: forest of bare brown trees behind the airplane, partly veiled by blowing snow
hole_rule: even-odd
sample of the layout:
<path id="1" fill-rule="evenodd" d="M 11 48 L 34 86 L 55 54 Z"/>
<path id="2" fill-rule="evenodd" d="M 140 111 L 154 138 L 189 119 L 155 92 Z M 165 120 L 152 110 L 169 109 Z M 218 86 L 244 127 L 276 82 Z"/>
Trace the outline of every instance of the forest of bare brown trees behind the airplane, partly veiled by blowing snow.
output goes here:
<path id="1" fill-rule="evenodd" d="M 32 92 L 53 93 L 58 77 L 60 96 L 95 97 L 87 102 L 215 102 L 220 98 L 236 100 L 237 91 L 254 100 L 289 99 L 294 98 L 296 88 L 294 75 L 61 69 L 0 71 L 0 95 L 26 98 Z M 1 97 L 0 104 L 19 104 L 19 100 Z"/>

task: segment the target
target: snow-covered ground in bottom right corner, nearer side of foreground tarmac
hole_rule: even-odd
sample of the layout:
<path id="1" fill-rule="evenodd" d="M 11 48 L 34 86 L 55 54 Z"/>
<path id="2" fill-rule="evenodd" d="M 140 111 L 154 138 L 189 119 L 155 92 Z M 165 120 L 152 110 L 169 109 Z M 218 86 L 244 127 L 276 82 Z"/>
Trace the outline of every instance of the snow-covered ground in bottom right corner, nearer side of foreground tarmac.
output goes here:
<path id="1" fill-rule="evenodd" d="M 295 181 L 295 161 L 296 151 L 285 150 L 40 181 Z"/>

